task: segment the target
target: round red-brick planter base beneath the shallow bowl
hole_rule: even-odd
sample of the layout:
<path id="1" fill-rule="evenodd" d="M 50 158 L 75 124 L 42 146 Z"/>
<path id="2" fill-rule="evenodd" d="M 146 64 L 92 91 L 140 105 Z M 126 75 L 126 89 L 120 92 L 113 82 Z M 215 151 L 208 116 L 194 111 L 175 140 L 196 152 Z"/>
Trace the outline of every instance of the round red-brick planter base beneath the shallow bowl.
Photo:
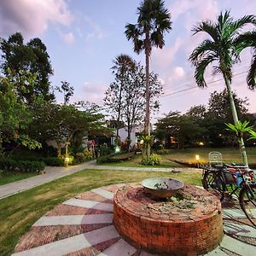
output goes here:
<path id="1" fill-rule="evenodd" d="M 191 185 L 177 195 L 163 201 L 141 185 L 125 186 L 113 198 L 113 224 L 126 241 L 151 253 L 198 255 L 218 247 L 224 236 L 218 199 Z"/>

